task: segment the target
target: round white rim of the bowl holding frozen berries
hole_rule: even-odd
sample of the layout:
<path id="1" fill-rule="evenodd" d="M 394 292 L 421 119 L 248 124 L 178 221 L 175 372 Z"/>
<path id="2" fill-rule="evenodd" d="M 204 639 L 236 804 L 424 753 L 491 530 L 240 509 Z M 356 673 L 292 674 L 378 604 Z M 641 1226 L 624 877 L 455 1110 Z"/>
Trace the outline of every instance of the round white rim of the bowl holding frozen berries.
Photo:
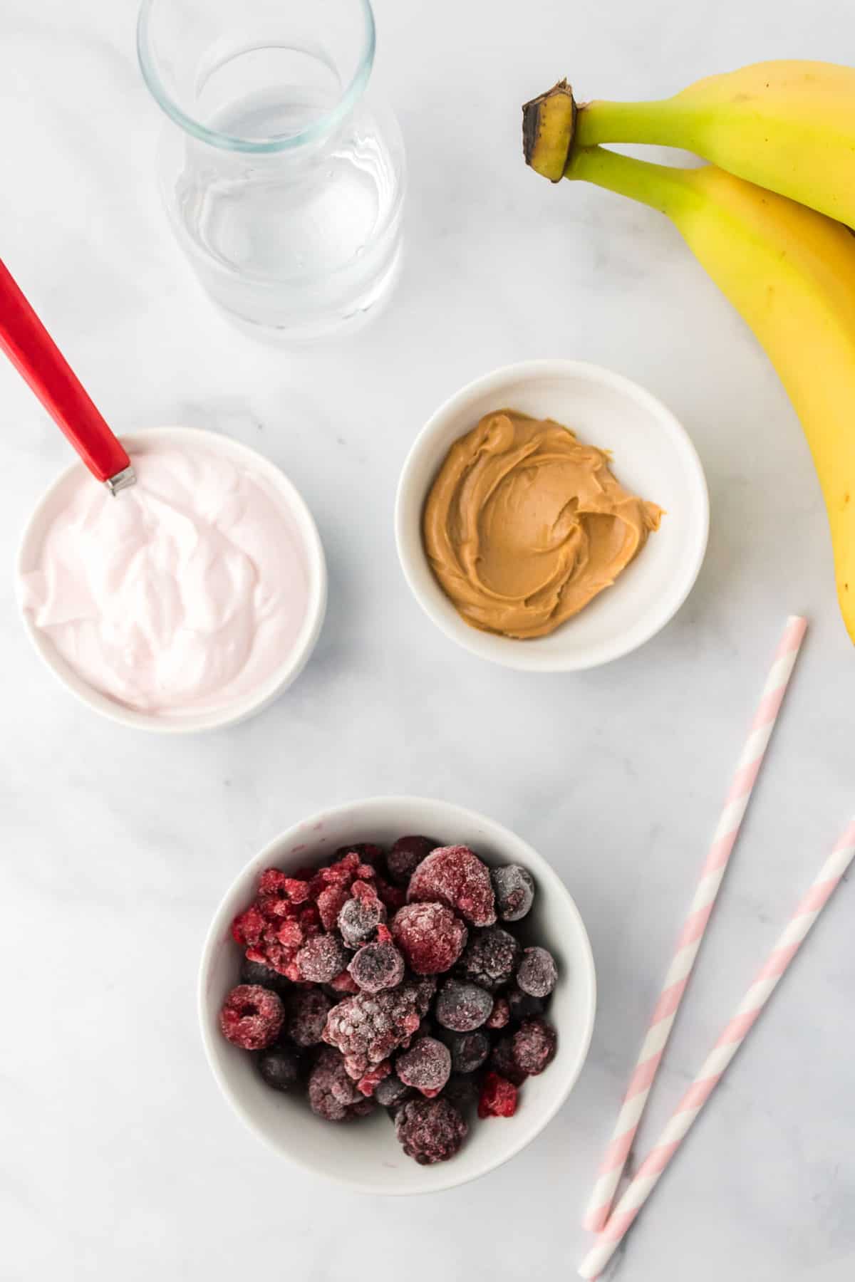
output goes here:
<path id="1" fill-rule="evenodd" d="M 460 820 L 461 826 L 465 823 L 483 824 L 485 828 L 487 828 L 488 831 L 491 829 L 492 832 L 500 835 L 502 838 L 510 838 L 510 841 L 518 849 L 523 849 L 526 851 L 526 858 L 529 858 L 532 860 L 532 864 L 537 869 L 537 877 L 546 879 L 549 885 L 547 894 L 558 895 L 561 899 L 564 908 L 567 909 L 567 913 L 569 918 L 573 920 L 573 924 L 577 929 L 578 941 L 582 949 L 582 954 L 585 956 L 583 982 L 586 990 L 588 1019 L 579 1042 L 579 1049 L 577 1050 L 574 1059 L 569 1061 L 569 1068 L 565 1068 L 564 1081 L 561 1087 L 556 1088 L 555 1099 L 547 1106 L 544 1115 L 537 1119 L 536 1124 L 533 1124 L 528 1131 L 526 1131 L 522 1135 L 522 1137 L 515 1144 L 513 1144 L 505 1153 L 502 1153 L 500 1156 L 496 1156 L 495 1160 L 485 1161 L 485 1164 L 479 1169 L 473 1170 L 467 1176 L 455 1176 L 452 1169 L 454 1161 L 445 1163 L 444 1164 L 445 1169 L 449 1172 L 447 1178 L 442 1183 L 435 1185 L 429 1190 L 409 1188 L 409 1187 L 387 1188 L 383 1185 L 374 1185 L 370 1181 L 354 1179 L 353 1177 L 346 1176 L 341 1170 L 329 1170 L 322 1174 L 317 1167 L 313 1167 L 310 1163 L 305 1161 L 297 1150 L 288 1150 L 287 1155 L 283 1154 L 282 1147 L 276 1144 L 276 1141 L 268 1133 L 268 1131 L 265 1131 L 260 1126 L 256 1126 L 255 1119 L 253 1118 L 250 1110 L 244 1108 L 242 1103 L 240 1101 L 237 1095 L 231 1090 L 223 1073 L 219 1069 L 214 1040 L 210 1036 L 208 1026 L 209 997 L 206 991 L 206 981 L 214 950 L 222 944 L 223 933 L 232 920 L 232 910 L 227 906 L 229 904 L 229 900 L 232 899 L 237 887 L 246 878 L 250 877 L 254 878 L 263 867 L 268 865 L 268 860 L 276 859 L 277 854 L 281 851 L 281 847 L 291 837 L 296 836 L 297 833 L 303 833 L 303 829 L 313 827 L 317 823 L 344 817 L 356 806 L 359 808 L 377 806 L 379 809 L 386 809 L 386 808 L 392 809 L 392 808 L 422 806 L 422 805 L 442 806 L 442 809 L 449 815 L 450 824 L 455 822 L 455 818 Z M 203 945 L 203 953 L 201 953 L 201 962 L 199 964 L 199 979 L 197 979 L 197 1014 L 201 1029 L 203 1046 L 205 1050 L 205 1058 L 208 1060 L 208 1065 L 212 1073 L 214 1074 L 214 1079 L 222 1095 L 224 1096 L 232 1110 L 237 1114 L 237 1117 L 244 1122 L 244 1124 L 255 1136 L 258 1136 L 258 1138 L 261 1140 L 261 1142 L 268 1149 L 274 1151 L 278 1156 L 287 1156 L 288 1161 L 294 1161 L 304 1170 L 309 1170 L 313 1176 L 331 1179 L 337 1185 L 342 1185 L 347 1188 L 354 1190 L 355 1192 L 379 1195 L 386 1197 L 427 1196 L 428 1194 L 446 1192 L 449 1188 L 458 1188 L 463 1185 L 472 1183 L 472 1181 L 474 1179 L 479 1179 L 482 1176 L 486 1176 L 491 1170 L 496 1170 L 499 1167 L 502 1167 L 506 1161 L 510 1161 L 510 1159 L 515 1158 L 518 1153 L 522 1153 L 522 1150 L 527 1145 L 529 1145 L 532 1140 L 535 1140 L 549 1126 L 549 1123 L 552 1120 L 559 1109 L 567 1103 L 568 1096 L 570 1095 L 573 1087 L 576 1086 L 579 1078 L 582 1068 L 585 1067 L 585 1063 L 587 1060 L 588 1051 L 591 1049 L 591 1040 L 594 1037 L 594 1024 L 596 1020 L 596 1001 L 597 1001 L 596 967 L 594 962 L 594 951 L 591 949 L 591 941 L 588 938 L 585 922 L 582 920 L 582 914 L 577 908 L 576 900 L 573 899 L 569 890 L 567 888 L 559 874 L 555 872 L 552 865 L 549 863 L 549 860 L 544 855 L 541 855 L 532 845 L 529 845 L 528 841 L 526 841 L 523 837 L 519 837 L 515 832 L 513 832 L 513 829 L 506 828 L 505 824 L 499 823 L 499 820 L 496 819 L 491 819 L 488 815 L 481 814 L 478 810 L 470 810 L 468 806 L 459 805 L 455 801 L 444 801 L 440 797 L 420 797 L 420 796 L 406 796 L 395 794 L 387 794 L 383 796 L 374 796 L 374 797 L 358 797 L 351 801 L 340 803 L 338 805 L 335 806 L 328 806 L 324 810 L 319 810 L 315 814 L 308 815 L 305 819 L 297 820 L 297 823 L 291 824 L 272 841 L 268 841 L 268 844 L 256 855 L 254 855 L 237 873 L 237 876 L 232 879 L 231 885 L 228 886 L 226 894 L 220 899 L 217 910 L 214 913 L 214 917 L 212 919 L 212 923 L 208 928 L 208 933 L 205 936 L 205 942 Z"/>

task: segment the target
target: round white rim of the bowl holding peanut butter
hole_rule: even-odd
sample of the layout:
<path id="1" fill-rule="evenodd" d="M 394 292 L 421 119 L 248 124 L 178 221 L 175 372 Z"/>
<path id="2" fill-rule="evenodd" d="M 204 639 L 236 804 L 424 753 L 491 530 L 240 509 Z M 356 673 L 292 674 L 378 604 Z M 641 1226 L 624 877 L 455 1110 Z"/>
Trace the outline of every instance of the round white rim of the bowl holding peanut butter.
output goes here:
<path id="1" fill-rule="evenodd" d="M 414 541 L 413 550 L 410 550 L 409 540 L 406 538 L 406 527 L 414 503 L 414 499 L 408 492 L 411 472 L 415 464 L 420 460 L 422 454 L 431 446 L 435 433 L 437 433 L 437 431 L 444 426 L 445 419 L 450 414 L 455 413 L 461 403 L 473 396 L 490 392 L 494 387 L 500 387 L 509 378 L 519 381 L 526 378 L 536 379 L 561 374 L 586 377 L 592 382 L 622 392 L 631 400 L 635 400 L 643 409 L 647 409 L 659 420 L 661 427 L 665 429 L 665 435 L 670 445 L 679 455 L 682 455 L 683 462 L 687 464 L 687 472 L 692 477 L 695 485 L 695 500 L 697 501 L 696 541 L 695 546 L 688 549 L 686 568 L 683 570 L 679 590 L 667 599 L 665 608 L 663 610 L 652 615 L 647 628 L 641 629 L 638 633 L 633 633 L 628 641 L 626 638 L 615 638 L 611 645 L 604 645 L 604 653 L 601 655 L 591 658 L 590 660 L 585 659 L 585 656 L 574 655 L 568 655 L 567 658 L 554 654 L 544 655 L 542 651 L 537 650 L 536 644 L 519 641 L 513 637 L 502 638 L 502 641 L 506 641 L 506 646 L 502 647 L 501 654 L 496 653 L 494 649 L 487 649 L 485 638 L 496 640 L 491 633 L 483 633 L 477 628 L 470 627 L 463 618 L 456 615 L 456 613 L 455 615 L 445 613 L 441 614 L 433 608 L 431 594 L 423 591 L 422 586 L 417 581 L 414 570 L 417 563 L 426 564 L 427 562 L 422 546 L 420 526 L 419 538 L 417 542 Z M 441 460 L 437 458 L 437 467 L 440 462 Z M 422 510 L 423 504 L 424 496 L 422 497 L 419 512 Z M 490 370 L 490 373 L 472 379 L 472 382 L 460 387 L 456 392 L 449 396 L 440 405 L 440 408 L 433 412 L 413 441 L 406 459 L 404 460 L 404 467 L 401 468 L 397 494 L 395 497 L 395 542 L 397 546 L 397 558 L 404 578 L 406 579 L 406 583 L 422 610 L 436 624 L 436 627 L 445 633 L 445 636 L 456 641 L 456 644 L 464 650 L 477 655 L 479 659 L 486 659 L 488 663 L 496 663 L 505 668 L 515 668 L 523 672 L 583 672 L 590 668 L 602 667 L 606 663 L 613 663 L 615 659 L 622 659 L 624 655 L 631 654 L 640 646 L 646 645 L 647 641 L 656 636 L 656 633 L 673 619 L 695 586 L 704 563 L 704 556 L 706 555 L 709 523 L 709 487 L 706 485 L 704 467 L 692 438 L 672 410 L 669 410 L 668 406 L 659 400 L 659 397 L 654 396 L 652 392 L 647 391 L 646 387 L 642 387 L 641 383 L 635 382 L 632 378 L 627 378 L 626 374 L 619 374 L 605 365 L 597 365 L 587 360 L 573 360 L 564 356 L 541 356 L 533 360 L 522 360 L 510 365 L 500 365 L 499 368 Z M 436 591 L 442 592 L 438 583 L 436 585 Z"/>

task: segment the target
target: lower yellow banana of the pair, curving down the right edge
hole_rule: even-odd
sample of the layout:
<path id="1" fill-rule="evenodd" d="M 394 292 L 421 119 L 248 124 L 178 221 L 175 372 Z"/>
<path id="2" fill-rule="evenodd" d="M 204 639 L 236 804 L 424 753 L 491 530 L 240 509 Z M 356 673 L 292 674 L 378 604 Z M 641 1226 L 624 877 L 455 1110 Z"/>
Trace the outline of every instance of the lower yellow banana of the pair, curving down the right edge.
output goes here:
<path id="1" fill-rule="evenodd" d="M 676 169 L 579 147 L 565 177 L 667 214 L 765 347 L 819 473 L 855 641 L 855 236 L 714 165 Z"/>

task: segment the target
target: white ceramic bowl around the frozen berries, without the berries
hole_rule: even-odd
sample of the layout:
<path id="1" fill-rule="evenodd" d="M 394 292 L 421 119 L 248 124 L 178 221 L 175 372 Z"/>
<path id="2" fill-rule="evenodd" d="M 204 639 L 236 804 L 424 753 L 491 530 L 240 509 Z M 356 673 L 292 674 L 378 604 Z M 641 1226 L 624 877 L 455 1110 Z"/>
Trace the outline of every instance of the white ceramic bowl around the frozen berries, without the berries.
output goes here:
<path id="1" fill-rule="evenodd" d="M 559 964 L 559 982 L 549 1006 L 558 1028 L 558 1053 L 540 1077 L 520 1090 L 513 1118 L 474 1120 L 460 1151 L 449 1161 L 419 1167 L 405 1156 L 382 1110 L 347 1126 L 314 1117 L 304 1096 L 281 1095 L 264 1085 L 245 1051 L 219 1031 L 219 1008 L 238 982 L 241 950 L 229 926 L 255 895 L 264 868 L 286 872 L 322 864 L 349 842 L 390 845 L 406 832 L 438 842 L 463 842 L 487 863 L 518 863 L 537 885 L 535 906 L 519 923 L 519 935 L 549 947 Z M 483 1176 L 519 1153 L 559 1110 L 576 1082 L 594 1031 L 596 985 L 594 958 L 579 912 L 546 860 L 508 828 L 447 801 L 420 797 L 373 797 L 336 806 L 288 828 L 240 873 L 214 914 L 199 974 L 199 1015 L 208 1061 L 220 1090 L 240 1118 L 277 1153 L 309 1170 L 369 1194 L 424 1194 L 452 1188 Z"/>

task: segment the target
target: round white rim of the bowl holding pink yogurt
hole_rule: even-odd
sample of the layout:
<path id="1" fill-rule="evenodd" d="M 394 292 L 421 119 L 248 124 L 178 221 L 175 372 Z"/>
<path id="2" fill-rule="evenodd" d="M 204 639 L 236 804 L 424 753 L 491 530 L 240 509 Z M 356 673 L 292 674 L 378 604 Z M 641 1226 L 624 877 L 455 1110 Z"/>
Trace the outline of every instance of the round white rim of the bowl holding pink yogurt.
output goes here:
<path id="1" fill-rule="evenodd" d="M 119 438 L 128 449 L 128 453 L 132 453 L 135 449 L 138 449 L 141 444 L 151 440 L 169 440 L 178 442 L 186 441 L 190 445 L 204 441 L 205 445 L 212 449 L 224 449 L 227 454 L 244 458 L 247 465 L 254 468 L 254 470 L 259 474 L 267 477 L 270 483 L 277 487 L 279 494 L 283 496 L 285 504 L 294 515 L 295 526 L 306 556 L 306 570 L 309 578 L 309 605 L 303 627 L 294 644 L 294 649 L 291 650 L 287 662 L 281 664 L 268 681 L 264 682 L 264 685 L 254 694 L 245 695 L 244 699 L 236 700 L 233 704 L 222 710 L 199 713 L 196 715 L 188 714 L 186 717 L 176 718 L 174 720 L 159 719 L 132 708 L 123 708 L 122 704 L 110 699 L 108 695 L 101 694 L 99 690 L 95 690 L 95 687 L 90 686 L 82 677 L 78 677 L 77 673 L 60 659 L 54 647 L 50 645 L 50 641 L 47 641 L 46 637 L 42 637 L 38 628 L 32 624 L 24 613 L 21 601 L 19 585 L 23 573 L 24 555 L 27 553 L 29 540 L 38 529 L 40 518 L 68 477 L 76 470 L 85 470 L 85 464 L 79 459 L 72 462 L 67 468 L 63 468 L 59 476 L 51 481 L 31 512 L 21 536 L 18 555 L 15 559 L 15 592 L 24 632 L 27 633 L 36 654 L 53 673 L 56 681 L 59 681 L 65 690 L 69 690 L 78 700 L 81 700 L 81 703 L 86 704 L 87 708 L 100 713 L 101 717 L 106 717 L 108 720 L 132 729 L 142 729 L 160 735 L 197 735 L 204 731 L 222 729 L 226 726 L 235 726 L 238 722 L 246 720 L 249 717 L 254 717 L 256 713 L 261 712 L 278 699 L 278 696 L 290 685 L 292 685 L 292 682 L 296 681 L 309 662 L 311 651 L 314 650 L 318 637 L 320 636 L 320 629 L 327 613 L 328 588 L 327 562 L 315 519 L 311 515 L 305 499 L 285 472 L 258 450 L 254 450 L 250 445 L 244 445 L 242 441 L 237 441 L 232 436 L 227 436 L 222 432 L 212 432 L 208 428 L 185 427 L 178 424 L 172 427 L 144 427 L 133 432 L 123 432 Z M 97 485 L 97 482 L 92 479 L 92 485 Z"/>

